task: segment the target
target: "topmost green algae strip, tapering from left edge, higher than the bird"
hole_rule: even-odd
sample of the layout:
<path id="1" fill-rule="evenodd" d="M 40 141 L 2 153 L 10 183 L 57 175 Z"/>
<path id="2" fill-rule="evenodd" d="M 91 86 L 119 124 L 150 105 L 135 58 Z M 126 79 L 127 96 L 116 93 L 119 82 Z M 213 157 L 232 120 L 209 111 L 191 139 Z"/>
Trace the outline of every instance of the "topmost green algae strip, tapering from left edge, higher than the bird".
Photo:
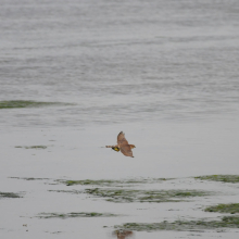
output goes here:
<path id="1" fill-rule="evenodd" d="M 11 101 L 0 101 L 0 109 L 41 108 L 41 106 L 50 106 L 50 105 L 68 105 L 68 104 L 70 103 L 62 103 L 62 102 L 11 100 Z"/>

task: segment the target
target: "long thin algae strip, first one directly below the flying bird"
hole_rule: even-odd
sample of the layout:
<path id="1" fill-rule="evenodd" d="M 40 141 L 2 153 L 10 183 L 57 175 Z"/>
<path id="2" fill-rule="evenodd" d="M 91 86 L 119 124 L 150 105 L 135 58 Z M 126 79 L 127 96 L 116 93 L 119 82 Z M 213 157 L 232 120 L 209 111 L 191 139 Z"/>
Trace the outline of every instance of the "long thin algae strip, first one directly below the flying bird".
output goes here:
<path id="1" fill-rule="evenodd" d="M 66 186 L 73 185 L 96 185 L 96 186 L 121 186 L 121 185 L 134 185 L 134 184 L 149 184 L 149 183 L 160 183 L 165 180 L 171 180 L 173 178 L 133 178 L 133 179 L 125 179 L 125 180 L 110 180 L 110 179 L 100 179 L 100 180 L 58 180 Z"/>

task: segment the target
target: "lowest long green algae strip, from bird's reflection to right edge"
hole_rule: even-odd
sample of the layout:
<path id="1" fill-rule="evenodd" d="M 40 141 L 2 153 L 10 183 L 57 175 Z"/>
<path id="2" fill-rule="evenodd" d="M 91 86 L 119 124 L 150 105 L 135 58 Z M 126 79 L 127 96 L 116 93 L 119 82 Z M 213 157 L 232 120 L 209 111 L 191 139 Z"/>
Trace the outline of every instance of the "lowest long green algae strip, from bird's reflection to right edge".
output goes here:
<path id="1" fill-rule="evenodd" d="M 116 225 L 115 228 L 129 229 L 137 231 L 152 231 L 152 230 L 206 230 L 219 228 L 239 228 L 239 217 L 224 216 L 221 221 L 175 221 L 162 223 L 126 223 Z"/>

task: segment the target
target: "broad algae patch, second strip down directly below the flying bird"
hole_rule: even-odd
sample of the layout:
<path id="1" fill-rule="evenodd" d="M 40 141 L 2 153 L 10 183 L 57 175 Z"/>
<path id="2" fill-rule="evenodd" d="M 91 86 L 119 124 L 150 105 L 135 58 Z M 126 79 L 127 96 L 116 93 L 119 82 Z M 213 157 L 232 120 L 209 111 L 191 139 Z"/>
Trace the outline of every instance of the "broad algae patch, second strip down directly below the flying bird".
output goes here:
<path id="1" fill-rule="evenodd" d="M 110 202 L 180 202 L 185 198 L 212 194 L 201 190 L 129 190 L 129 189 L 86 189 L 86 193 L 105 198 Z"/>

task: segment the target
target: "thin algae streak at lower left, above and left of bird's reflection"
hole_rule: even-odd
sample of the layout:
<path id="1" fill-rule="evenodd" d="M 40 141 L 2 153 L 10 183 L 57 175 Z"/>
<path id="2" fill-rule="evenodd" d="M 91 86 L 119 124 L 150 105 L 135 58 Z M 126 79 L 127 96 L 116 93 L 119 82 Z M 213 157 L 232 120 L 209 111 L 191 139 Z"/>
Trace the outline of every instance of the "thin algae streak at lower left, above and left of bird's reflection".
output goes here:
<path id="1" fill-rule="evenodd" d="M 79 212 L 79 213 L 40 213 L 37 217 L 39 218 L 70 218 L 70 217 L 110 217 L 117 216 L 110 213 L 96 213 L 96 212 Z"/>

